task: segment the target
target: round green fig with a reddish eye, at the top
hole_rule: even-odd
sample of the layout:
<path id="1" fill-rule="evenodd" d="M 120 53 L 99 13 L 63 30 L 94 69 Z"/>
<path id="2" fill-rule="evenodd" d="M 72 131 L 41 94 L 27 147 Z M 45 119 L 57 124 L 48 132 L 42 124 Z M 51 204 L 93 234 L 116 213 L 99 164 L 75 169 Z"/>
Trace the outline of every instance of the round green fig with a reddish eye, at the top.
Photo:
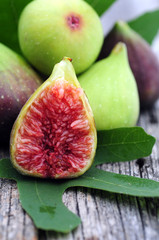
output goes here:
<path id="1" fill-rule="evenodd" d="M 77 74 L 98 57 L 104 36 L 95 10 L 83 0 L 36 0 L 23 10 L 19 42 L 28 61 L 50 75 L 63 56 L 70 56 Z"/>

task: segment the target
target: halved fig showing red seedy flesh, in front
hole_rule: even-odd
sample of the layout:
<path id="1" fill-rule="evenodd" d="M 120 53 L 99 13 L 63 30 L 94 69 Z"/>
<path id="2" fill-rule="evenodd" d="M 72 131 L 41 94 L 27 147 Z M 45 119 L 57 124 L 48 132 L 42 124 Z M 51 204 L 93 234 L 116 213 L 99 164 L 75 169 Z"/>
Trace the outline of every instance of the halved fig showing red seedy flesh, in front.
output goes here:
<path id="1" fill-rule="evenodd" d="M 70 58 L 22 108 L 11 133 L 13 166 L 41 178 L 74 178 L 94 159 L 97 136 L 93 113 Z"/>

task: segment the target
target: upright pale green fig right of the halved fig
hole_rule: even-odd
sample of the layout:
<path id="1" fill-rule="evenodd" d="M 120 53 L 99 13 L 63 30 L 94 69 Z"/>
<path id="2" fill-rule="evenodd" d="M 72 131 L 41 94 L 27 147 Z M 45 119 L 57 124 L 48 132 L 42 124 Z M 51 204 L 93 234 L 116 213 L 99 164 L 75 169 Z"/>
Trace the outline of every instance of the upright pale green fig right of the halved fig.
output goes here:
<path id="1" fill-rule="evenodd" d="M 125 44 L 118 43 L 110 56 L 91 66 L 79 82 L 88 96 L 97 130 L 136 124 L 139 96 Z"/>

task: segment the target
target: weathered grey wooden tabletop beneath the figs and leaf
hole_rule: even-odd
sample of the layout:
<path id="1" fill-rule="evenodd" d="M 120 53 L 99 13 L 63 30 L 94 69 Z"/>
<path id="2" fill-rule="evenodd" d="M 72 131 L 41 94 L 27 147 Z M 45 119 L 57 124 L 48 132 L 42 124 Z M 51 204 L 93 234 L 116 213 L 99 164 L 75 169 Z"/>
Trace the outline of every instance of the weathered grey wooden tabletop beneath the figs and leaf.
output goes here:
<path id="1" fill-rule="evenodd" d="M 141 113 L 139 125 L 156 137 L 152 155 L 132 162 L 105 164 L 102 169 L 136 177 L 159 180 L 159 101 Z M 9 157 L 1 147 L 0 158 Z M 159 199 L 137 198 L 84 188 L 67 190 L 68 208 L 82 224 L 69 234 L 38 231 L 23 211 L 16 183 L 0 180 L 0 240 L 157 240 Z"/>

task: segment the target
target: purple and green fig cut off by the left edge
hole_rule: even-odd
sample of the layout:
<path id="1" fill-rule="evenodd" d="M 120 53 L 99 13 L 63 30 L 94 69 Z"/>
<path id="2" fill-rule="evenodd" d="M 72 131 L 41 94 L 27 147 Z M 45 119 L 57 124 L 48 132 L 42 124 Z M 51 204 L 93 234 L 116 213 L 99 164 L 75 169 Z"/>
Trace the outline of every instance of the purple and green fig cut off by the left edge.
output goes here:
<path id="1" fill-rule="evenodd" d="M 0 43 L 0 142 L 9 142 L 20 109 L 41 83 L 21 56 Z"/>

